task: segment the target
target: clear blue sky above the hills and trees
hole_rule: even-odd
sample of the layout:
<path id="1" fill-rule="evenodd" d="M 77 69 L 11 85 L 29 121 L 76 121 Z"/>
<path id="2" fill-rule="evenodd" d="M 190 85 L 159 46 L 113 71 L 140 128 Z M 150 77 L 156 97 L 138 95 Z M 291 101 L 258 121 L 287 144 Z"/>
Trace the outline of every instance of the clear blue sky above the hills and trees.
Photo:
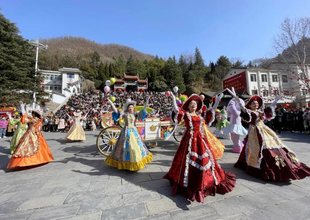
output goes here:
<path id="1" fill-rule="evenodd" d="M 206 64 L 220 55 L 270 57 L 286 18 L 310 16 L 310 1 L 0 1 L 26 39 L 85 37 L 177 58 L 197 46 Z"/>

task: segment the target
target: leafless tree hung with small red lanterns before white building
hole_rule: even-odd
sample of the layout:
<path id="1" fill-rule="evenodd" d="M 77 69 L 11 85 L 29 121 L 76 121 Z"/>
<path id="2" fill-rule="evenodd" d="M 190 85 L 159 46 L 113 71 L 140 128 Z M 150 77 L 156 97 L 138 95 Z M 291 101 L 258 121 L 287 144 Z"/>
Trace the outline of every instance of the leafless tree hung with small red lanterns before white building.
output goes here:
<path id="1" fill-rule="evenodd" d="M 310 18 L 286 18 L 281 24 L 281 33 L 273 38 L 273 43 L 273 55 L 278 67 L 289 73 L 287 81 L 290 87 L 281 92 L 295 94 L 299 102 L 309 101 Z"/>

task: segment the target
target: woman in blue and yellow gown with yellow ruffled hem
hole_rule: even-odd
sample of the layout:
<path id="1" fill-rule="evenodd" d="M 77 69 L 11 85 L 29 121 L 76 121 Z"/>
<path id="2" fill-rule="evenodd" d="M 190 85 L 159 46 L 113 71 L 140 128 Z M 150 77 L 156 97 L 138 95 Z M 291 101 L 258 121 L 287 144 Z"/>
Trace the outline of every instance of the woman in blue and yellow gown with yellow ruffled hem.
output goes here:
<path id="1" fill-rule="evenodd" d="M 153 159 L 152 153 L 148 151 L 135 126 L 137 117 L 142 121 L 145 120 L 148 100 L 144 105 L 144 109 L 139 112 L 134 112 L 137 103 L 132 102 L 131 99 L 126 100 L 122 112 L 118 111 L 110 100 L 108 101 L 114 110 L 112 112 L 113 121 L 117 122 L 123 118 L 125 126 L 118 137 L 115 147 L 104 161 L 106 164 L 118 169 L 140 170 Z"/>

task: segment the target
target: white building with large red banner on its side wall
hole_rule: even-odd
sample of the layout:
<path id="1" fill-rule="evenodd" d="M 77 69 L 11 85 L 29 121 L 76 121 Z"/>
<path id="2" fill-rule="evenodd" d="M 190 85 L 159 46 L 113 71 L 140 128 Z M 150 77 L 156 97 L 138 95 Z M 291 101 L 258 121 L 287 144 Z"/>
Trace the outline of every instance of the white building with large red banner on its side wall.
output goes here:
<path id="1" fill-rule="evenodd" d="M 306 66 L 306 74 L 310 78 L 310 66 Z M 301 80 L 278 64 L 269 64 L 266 69 L 232 67 L 221 81 L 223 89 L 234 87 L 236 92 L 259 95 L 266 104 L 271 103 L 280 93 L 283 93 L 283 100 L 278 102 L 281 105 L 294 102 L 299 107 L 310 103 L 310 92 L 302 86 Z"/>

